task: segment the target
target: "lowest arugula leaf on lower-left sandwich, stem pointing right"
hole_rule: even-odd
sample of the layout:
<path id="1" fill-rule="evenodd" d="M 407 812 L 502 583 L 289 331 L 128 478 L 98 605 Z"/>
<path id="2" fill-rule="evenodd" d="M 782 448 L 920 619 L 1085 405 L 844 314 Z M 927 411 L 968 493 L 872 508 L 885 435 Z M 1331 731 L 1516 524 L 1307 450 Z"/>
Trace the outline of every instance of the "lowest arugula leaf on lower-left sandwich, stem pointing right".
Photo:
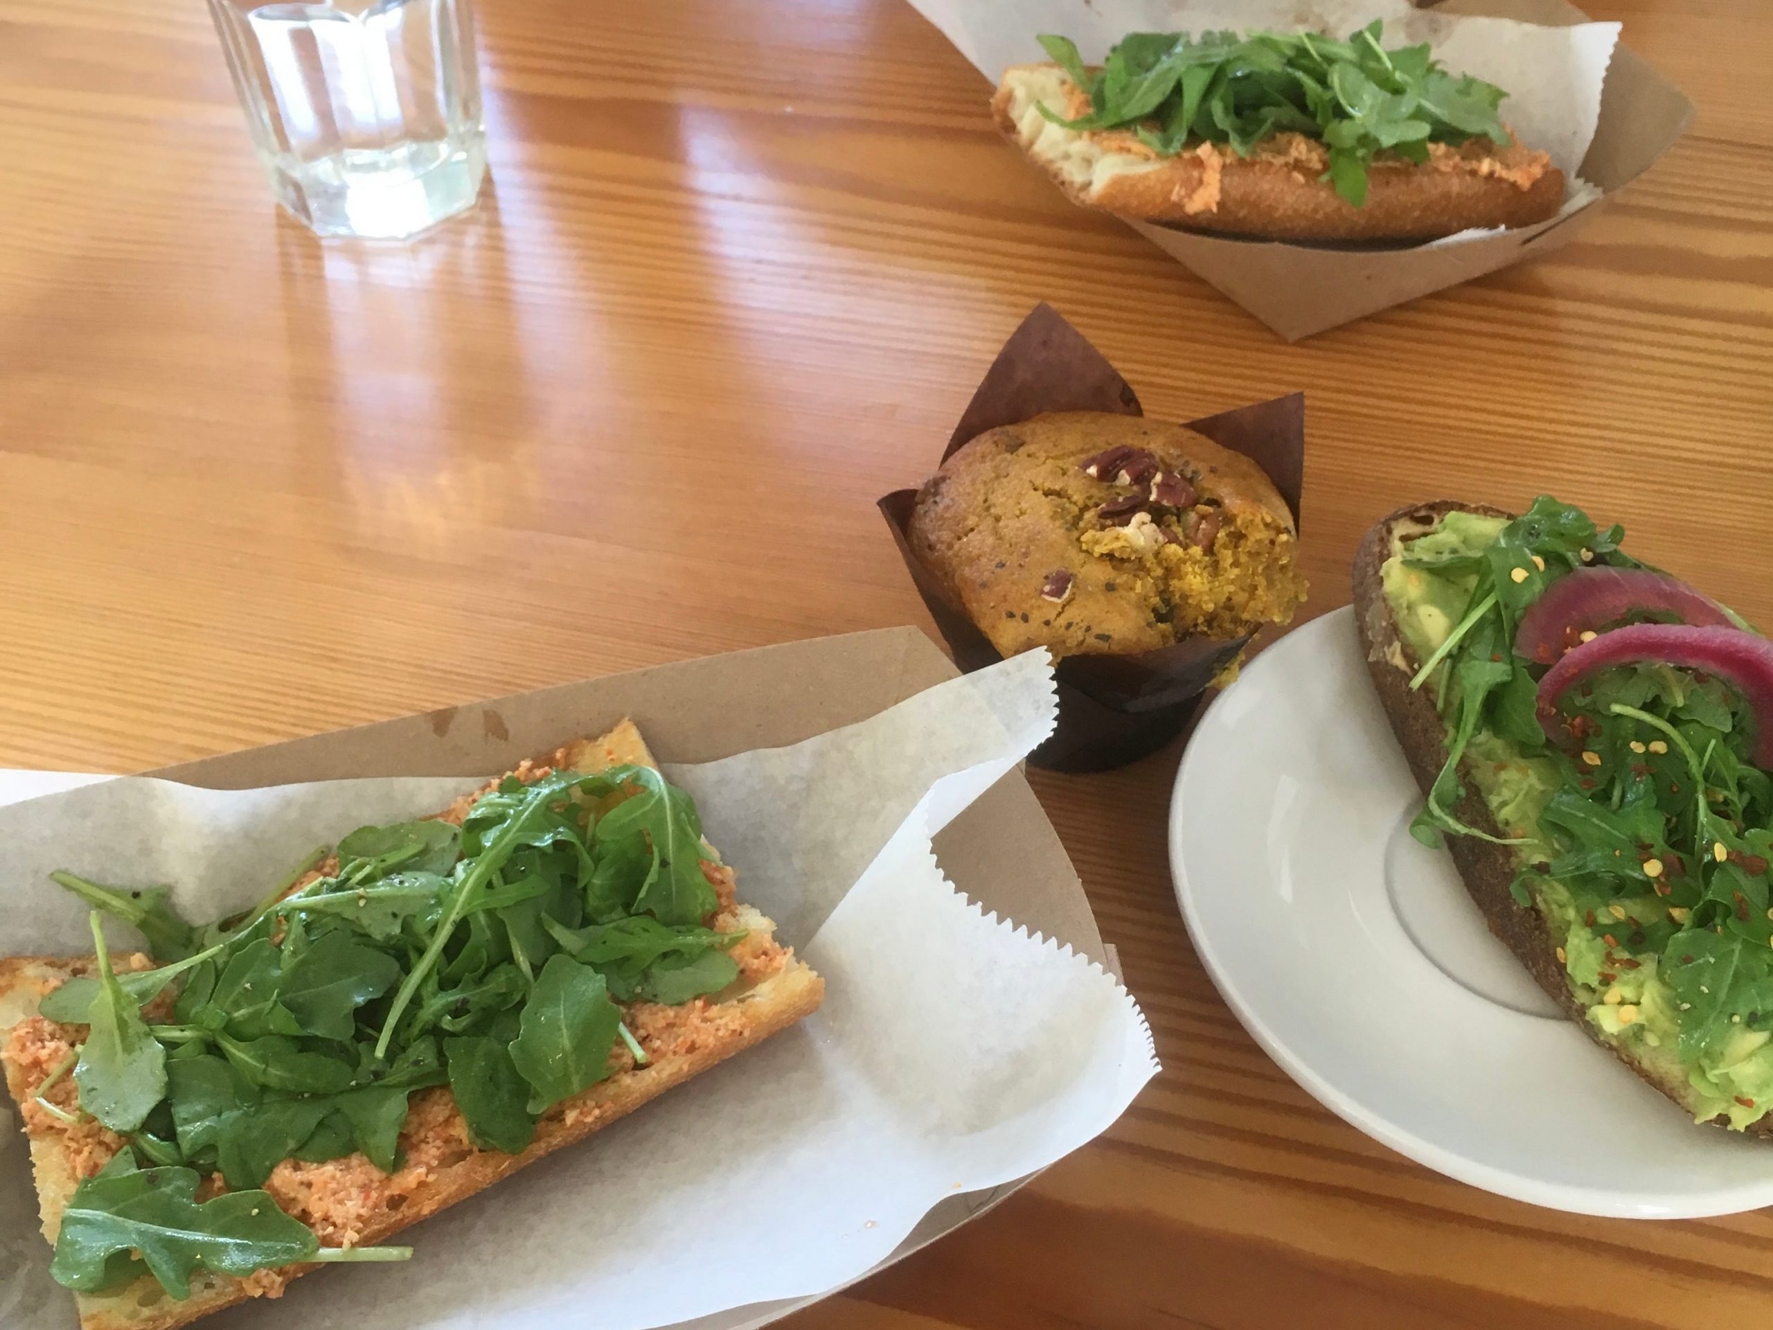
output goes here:
<path id="1" fill-rule="evenodd" d="M 99 1293 L 133 1254 L 168 1295 L 184 1300 L 197 1266 L 250 1275 L 301 1261 L 404 1261 L 413 1254 L 411 1247 L 323 1248 L 269 1193 L 227 1192 L 199 1202 L 197 1185 L 191 1169 L 137 1169 L 129 1151 L 119 1153 L 69 1197 L 50 1277 L 76 1293 Z"/>

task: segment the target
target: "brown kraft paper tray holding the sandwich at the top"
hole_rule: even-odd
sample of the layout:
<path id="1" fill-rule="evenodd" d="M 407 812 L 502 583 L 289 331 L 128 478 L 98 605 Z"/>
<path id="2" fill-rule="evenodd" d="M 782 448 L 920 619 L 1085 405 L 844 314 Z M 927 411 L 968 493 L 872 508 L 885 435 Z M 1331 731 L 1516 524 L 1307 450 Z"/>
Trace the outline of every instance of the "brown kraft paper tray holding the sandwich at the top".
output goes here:
<path id="1" fill-rule="evenodd" d="M 1089 0 L 1078 2 L 1089 4 Z M 911 4 L 952 35 L 950 23 L 970 0 L 911 0 Z M 1587 14 L 1566 0 L 1449 0 L 1434 9 L 1449 16 L 1507 18 L 1544 27 L 1589 21 Z M 1000 12 L 1012 11 L 1014 0 L 1009 0 Z M 1308 4 L 1300 5 L 1300 21 L 1310 23 Z M 1030 30 L 1025 57 L 1028 60 L 1043 59 L 1034 35 Z M 982 73 L 995 82 L 1002 71 Z M 1691 119 L 1693 103 L 1621 43 L 1613 48 L 1612 64 L 1606 67 L 1594 140 L 1578 170 L 1582 179 L 1601 190 L 1601 197 L 1574 213 L 1456 245 L 1427 243 L 1404 248 L 1291 245 L 1126 222 L 1280 337 L 1296 342 L 1417 296 L 1564 248 L 1606 207 L 1612 195 L 1649 170 L 1674 145 Z M 1005 151 L 1014 149 L 1005 147 Z"/>

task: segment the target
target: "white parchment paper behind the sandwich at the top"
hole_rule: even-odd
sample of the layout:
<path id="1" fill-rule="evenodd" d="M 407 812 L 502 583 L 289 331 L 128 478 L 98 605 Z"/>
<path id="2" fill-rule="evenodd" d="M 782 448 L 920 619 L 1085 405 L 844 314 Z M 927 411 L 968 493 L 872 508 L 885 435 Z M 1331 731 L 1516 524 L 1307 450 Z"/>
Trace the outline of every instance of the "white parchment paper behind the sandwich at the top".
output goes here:
<path id="1" fill-rule="evenodd" d="M 1410 0 L 911 0 L 993 83 L 1012 64 L 1046 60 L 1035 35 L 1071 37 L 1087 62 L 1101 62 L 1128 32 L 1254 28 L 1328 32 L 1339 37 L 1385 20 L 1385 44 L 1433 43 L 1454 73 L 1509 90 L 1502 119 L 1525 144 L 1544 149 L 1564 172 L 1564 215 L 1601 192 L 1578 179 L 1601 121 L 1601 85 L 1619 43 L 1619 23 L 1543 27 L 1502 18 L 1463 18 L 1417 9 Z M 1457 245 L 1493 231 L 1461 231 L 1433 241 Z"/>

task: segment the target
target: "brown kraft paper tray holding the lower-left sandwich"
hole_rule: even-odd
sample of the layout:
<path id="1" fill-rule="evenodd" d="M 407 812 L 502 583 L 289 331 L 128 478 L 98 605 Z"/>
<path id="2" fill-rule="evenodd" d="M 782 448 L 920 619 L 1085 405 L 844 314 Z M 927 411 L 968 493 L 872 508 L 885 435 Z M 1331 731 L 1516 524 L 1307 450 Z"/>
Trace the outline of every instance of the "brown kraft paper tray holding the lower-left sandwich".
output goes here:
<path id="1" fill-rule="evenodd" d="M 147 775 L 211 789 L 415 773 L 477 777 L 601 732 L 622 716 L 633 716 L 661 761 L 704 763 L 798 743 L 954 676 L 954 665 L 920 631 L 885 628 L 441 708 Z M 1076 872 L 1019 773 L 1004 777 L 934 844 L 949 880 L 986 910 L 1113 968 Z M 1016 872 L 1002 872 L 1004 864 L 1016 864 Z M 941 1201 L 876 1270 L 995 1206 L 1025 1181 Z M 681 1325 L 748 1330 L 828 1293 L 734 1307 Z M 216 1325 L 223 1321 L 232 1318 L 223 1314 Z"/>

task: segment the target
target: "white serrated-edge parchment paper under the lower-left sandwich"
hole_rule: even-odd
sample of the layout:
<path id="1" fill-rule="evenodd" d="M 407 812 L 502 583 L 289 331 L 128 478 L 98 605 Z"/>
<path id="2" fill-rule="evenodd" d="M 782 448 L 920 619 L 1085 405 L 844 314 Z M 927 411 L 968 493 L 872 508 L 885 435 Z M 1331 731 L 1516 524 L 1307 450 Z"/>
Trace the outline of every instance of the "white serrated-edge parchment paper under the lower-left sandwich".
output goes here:
<path id="1" fill-rule="evenodd" d="M 640 1330 L 821 1293 L 885 1259 L 941 1197 L 1103 1131 L 1158 1069 L 1138 1007 L 1094 963 L 968 903 L 929 844 L 1046 738 L 1053 708 L 1046 656 L 1028 653 L 807 743 L 667 768 L 739 869 L 741 897 L 824 975 L 824 1007 L 411 1229 L 413 1261 L 323 1271 L 207 1325 Z M 121 778 L 0 807 L 0 954 L 90 951 L 85 911 L 50 869 L 168 881 L 207 919 L 262 896 L 314 844 L 475 784 Z M 74 1325 L 48 1261 L 9 1130 L 0 1323 Z"/>

